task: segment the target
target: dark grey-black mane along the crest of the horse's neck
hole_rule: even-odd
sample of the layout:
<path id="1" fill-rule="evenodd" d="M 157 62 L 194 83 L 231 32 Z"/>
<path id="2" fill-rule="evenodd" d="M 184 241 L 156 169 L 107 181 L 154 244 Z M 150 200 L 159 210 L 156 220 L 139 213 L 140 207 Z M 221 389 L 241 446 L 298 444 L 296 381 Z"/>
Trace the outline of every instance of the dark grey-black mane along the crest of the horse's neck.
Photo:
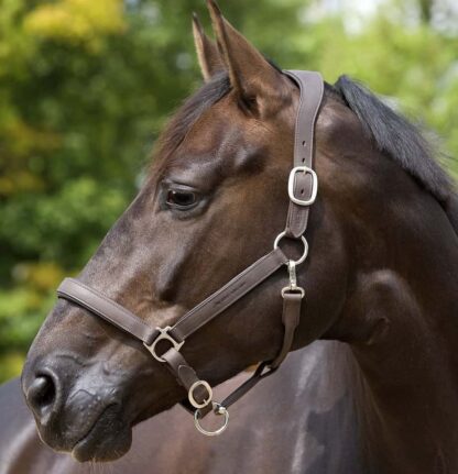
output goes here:
<path id="1" fill-rule="evenodd" d="M 377 147 L 437 199 L 458 232 L 458 197 L 452 179 L 435 159 L 438 152 L 421 129 L 348 76 L 340 76 L 334 89 L 356 113 Z"/>

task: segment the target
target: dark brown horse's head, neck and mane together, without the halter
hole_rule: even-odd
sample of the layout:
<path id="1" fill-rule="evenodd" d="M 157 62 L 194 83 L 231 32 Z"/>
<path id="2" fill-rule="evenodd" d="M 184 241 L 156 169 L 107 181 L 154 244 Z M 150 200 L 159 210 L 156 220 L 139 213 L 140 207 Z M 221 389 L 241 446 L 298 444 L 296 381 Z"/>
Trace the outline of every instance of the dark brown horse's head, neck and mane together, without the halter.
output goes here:
<path id="1" fill-rule="evenodd" d="M 209 8 L 219 47 L 195 27 L 206 84 L 172 120 L 142 190 L 79 276 L 152 327 L 173 323 L 263 255 L 287 209 L 298 90 Z M 319 197 L 298 274 L 306 305 L 294 349 L 317 339 L 349 345 L 363 472 L 455 473 L 458 210 L 450 180 L 414 126 L 345 77 L 326 88 L 315 146 Z M 183 354 L 211 385 L 276 355 L 284 278 L 268 278 L 186 342 Z M 325 368 L 335 376 L 331 365 Z M 132 426 L 184 398 L 140 343 L 64 300 L 30 350 L 22 386 L 44 442 L 80 461 L 123 455 Z M 263 408 L 257 430 L 269 438 L 272 406 Z M 248 456 L 248 428 L 229 429 L 240 430 L 235 455 Z M 282 441 L 287 433 L 283 427 Z M 301 445 L 301 437 L 291 443 Z M 341 472 L 358 465 L 355 455 Z"/>

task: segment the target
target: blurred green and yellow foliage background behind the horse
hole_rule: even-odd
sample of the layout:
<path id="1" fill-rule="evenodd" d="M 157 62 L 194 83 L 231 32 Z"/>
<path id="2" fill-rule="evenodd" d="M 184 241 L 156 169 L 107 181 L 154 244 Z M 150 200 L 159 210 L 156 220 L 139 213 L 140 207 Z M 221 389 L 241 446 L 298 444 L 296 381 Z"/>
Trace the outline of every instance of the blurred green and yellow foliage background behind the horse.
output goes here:
<path id="1" fill-rule="evenodd" d="M 455 0 L 219 1 L 281 67 L 349 74 L 436 131 L 457 176 Z M 204 0 L 0 0 L 0 382 L 199 86 L 192 11 L 210 31 Z"/>

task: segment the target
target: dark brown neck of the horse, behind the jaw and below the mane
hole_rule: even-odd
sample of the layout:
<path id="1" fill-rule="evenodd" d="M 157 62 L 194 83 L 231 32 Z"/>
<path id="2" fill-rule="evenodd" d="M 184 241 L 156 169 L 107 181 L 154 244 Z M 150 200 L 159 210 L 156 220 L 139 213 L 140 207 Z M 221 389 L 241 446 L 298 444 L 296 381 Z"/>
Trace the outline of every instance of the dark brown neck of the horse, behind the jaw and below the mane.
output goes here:
<path id="1" fill-rule="evenodd" d="M 456 472 L 458 238 L 435 198 L 380 159 L 380 176 L 367 176 L 371 188 L 350 198 L 356 269 L 327 337 L 349 342 L 361 370 L 374 471 Z"/>

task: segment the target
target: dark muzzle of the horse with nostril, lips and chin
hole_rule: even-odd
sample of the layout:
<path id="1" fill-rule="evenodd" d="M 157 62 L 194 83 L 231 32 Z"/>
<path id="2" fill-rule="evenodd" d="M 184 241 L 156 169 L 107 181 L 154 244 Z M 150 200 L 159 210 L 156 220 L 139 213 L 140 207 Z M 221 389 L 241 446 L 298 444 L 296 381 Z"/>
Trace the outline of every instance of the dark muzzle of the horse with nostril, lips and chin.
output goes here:
<path id="1" fill-rule="evenodd" d="M 80 368 L 80 367 L 79 367 Z M 77 376 L 81 373 L 84 375 Z M 48 356 L 24 367 L 22 386 L 43 442 L 83 461 L 110 461 L 131 445 L 120 386 L 100 383 L 101 370 L 80 371 L 66 356 Z"/>

